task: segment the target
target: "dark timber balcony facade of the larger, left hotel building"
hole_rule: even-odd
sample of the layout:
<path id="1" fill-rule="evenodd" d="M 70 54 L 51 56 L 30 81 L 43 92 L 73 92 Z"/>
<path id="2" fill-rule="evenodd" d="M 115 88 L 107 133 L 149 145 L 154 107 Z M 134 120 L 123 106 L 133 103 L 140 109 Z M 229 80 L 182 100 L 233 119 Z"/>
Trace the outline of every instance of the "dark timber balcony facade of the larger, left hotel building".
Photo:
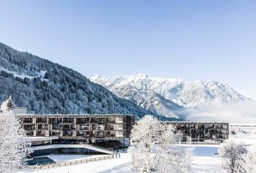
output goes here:
<path id="1" fill-rule="evenodd" d="M 94 142 L 129 137 L 133 116 L 122 114 L 16 114 L 28 136 Z"/>

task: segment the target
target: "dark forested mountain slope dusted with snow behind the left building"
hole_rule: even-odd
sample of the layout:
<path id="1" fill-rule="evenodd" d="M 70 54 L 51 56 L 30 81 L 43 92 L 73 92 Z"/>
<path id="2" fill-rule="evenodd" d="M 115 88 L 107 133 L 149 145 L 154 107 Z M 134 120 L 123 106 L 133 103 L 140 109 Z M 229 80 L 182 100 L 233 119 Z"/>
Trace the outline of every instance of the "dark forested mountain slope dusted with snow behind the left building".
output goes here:
<path id="1" fill-rule="evenodd" d="M 9 95 L 36 114 L 152 114 L 68 67 L 0 43 L 0 103 Z"/>

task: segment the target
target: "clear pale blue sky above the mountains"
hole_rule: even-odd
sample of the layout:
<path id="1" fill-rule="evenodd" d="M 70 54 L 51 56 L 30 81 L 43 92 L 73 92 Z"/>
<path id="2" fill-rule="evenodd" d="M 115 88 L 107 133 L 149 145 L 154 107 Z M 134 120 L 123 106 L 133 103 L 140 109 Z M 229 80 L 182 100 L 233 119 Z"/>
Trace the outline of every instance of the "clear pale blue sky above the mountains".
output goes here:
<path id="1" fill-rule="evenodd" d="M 216 80 L 256 100 L 256 1 L 0 1 L 0 42 L 88 78 Z"/>

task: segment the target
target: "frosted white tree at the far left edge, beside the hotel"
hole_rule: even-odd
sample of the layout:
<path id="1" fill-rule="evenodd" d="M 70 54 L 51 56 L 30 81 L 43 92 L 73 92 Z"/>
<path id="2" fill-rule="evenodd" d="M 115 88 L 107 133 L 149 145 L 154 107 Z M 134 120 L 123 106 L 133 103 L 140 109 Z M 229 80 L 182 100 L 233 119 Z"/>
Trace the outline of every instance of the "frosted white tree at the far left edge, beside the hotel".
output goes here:
<path id="1" fill-rule="evenodd" d="M 24 139 L 26 132 L 12 111 L 11 97 L 1 105 L 0 113 L 0 172 L 13 172 L 26 164 L 32 152 Z"/>

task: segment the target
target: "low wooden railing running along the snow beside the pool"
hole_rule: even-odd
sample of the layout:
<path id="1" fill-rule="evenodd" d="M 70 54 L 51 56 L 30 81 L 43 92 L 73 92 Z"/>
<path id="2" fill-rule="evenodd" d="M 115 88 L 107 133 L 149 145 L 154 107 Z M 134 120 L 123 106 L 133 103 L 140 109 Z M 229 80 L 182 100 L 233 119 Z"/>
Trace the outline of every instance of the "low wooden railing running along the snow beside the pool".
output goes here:
<path id="1" fill-rule="evenodd" d="M 79 163 L 87 163 L 90 161 L 101 161 L 109 158 L 118 158 L 117 155 L 104 155 L 96 158 L 85 158 L 77 161 L 65 161 L 61 163 L 52 163 L 52 164 L 47 164 L 47 165 L 34 165 L 34 166 L 27 166 L 26 169 L 50 169 L 50 168 L 57 168 L 60 166 L 68 166 L 68 165 L 74 165 L 74 164 L 79 164 Z M 119 154 L 120 158 L 120 154 Z"/>

